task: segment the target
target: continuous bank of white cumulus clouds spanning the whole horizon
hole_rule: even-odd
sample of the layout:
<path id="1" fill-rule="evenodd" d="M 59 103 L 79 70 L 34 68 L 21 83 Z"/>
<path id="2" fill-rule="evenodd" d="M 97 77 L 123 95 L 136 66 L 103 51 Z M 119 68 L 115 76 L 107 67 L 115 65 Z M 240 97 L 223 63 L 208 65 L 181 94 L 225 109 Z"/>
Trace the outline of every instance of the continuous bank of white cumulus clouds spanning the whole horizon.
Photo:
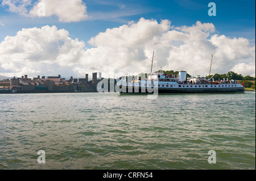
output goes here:
<path id="1" fill-rule="evenodd" d="M 107 29 L 89 41 L 71 39 L 66 30 L 45 26 L 19 31 L 0 44 L 0 74 L 84 76 L 93 71 L 108 77 L 115 73 L 148 73 L 155 50 L 153 71 L 186 70 L 191 75 L 234 71 L 255 76 L 255 44 L 243 37 L 218 35 L 212 23 L 171 26 L 170 20 L 157 22 L 141 18 Z"/>

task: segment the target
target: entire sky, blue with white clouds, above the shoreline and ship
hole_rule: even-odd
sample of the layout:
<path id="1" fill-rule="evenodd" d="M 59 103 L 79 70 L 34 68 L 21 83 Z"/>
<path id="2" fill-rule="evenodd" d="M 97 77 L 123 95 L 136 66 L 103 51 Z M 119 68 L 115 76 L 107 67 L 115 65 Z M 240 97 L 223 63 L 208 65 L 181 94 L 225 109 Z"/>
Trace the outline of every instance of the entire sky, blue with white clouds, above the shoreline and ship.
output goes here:
<path id="1" fill-rule="evenodd" d="M 208 75 L 213 54 L 212 74 L 255 77 L 255 1 L 0 1 L 0 75 L 147 73 L 153 51 L 154 71 Z"/>

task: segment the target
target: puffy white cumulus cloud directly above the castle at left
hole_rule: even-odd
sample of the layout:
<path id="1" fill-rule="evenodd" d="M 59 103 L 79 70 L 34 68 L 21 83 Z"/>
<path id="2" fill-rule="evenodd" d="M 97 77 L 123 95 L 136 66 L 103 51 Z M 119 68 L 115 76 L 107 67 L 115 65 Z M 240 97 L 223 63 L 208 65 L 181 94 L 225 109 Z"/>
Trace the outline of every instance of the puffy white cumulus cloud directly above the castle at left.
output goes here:
<path id="1" fill-rule="evenodd" d="M 56 26 L 24 28 L 16 36 L 7 36 L 0 43 L 0 65 L 19 76 L 46 71 L 55 74 L 57 67 L 59 70 L 64 70 L 64 67 L 70 69 L 78 64 L 85 43 L 72 40 L 68 35 L 68 31 L 57 30 Z"/>

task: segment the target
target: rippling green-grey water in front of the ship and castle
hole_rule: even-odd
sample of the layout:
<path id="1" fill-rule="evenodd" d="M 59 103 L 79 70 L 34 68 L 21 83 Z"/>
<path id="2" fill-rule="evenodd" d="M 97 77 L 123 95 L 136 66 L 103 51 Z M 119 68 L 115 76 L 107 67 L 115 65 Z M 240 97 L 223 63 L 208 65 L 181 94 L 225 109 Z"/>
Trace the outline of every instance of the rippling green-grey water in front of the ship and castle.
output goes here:
<path id="1" fill-rule="evenodd" d="M 5 94 L 0 103 L 0 169 L 255 169 L 255 92 Z"/>

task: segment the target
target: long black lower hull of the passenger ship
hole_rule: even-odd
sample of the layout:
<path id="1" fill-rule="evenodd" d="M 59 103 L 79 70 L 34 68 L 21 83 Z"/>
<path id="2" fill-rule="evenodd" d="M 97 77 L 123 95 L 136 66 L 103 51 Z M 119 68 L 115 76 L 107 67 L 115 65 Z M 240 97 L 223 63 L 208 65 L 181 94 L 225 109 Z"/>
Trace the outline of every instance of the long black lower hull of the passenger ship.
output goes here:
<path id="1" fill-rule="evenodd" d="M 159 89 L 141 89 L 141 87 L 122 87 L 119 89 L 120 94 L 196 94 L 196 93 L 243 93 L 244 87 L 232 88 L 214 88 L 214 89 L 175 89 L 175 88 L 159 88 Z"/>

